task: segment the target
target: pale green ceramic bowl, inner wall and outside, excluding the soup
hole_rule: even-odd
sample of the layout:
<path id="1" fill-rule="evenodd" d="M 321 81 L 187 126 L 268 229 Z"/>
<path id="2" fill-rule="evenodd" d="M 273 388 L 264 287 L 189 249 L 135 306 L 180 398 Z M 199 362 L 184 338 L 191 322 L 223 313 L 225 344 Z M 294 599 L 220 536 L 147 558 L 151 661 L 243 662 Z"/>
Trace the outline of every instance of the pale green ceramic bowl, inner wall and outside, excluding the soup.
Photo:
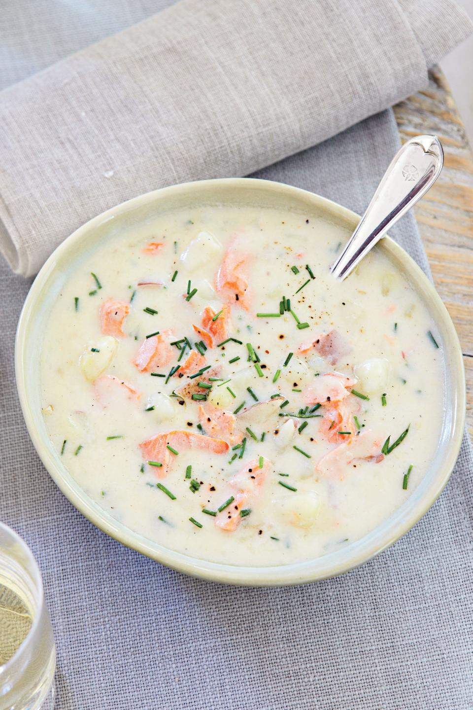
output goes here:
<path id="1" fill-rule="evenodd" d="M 62 283 L 74 273 L 85 253 L 93 251 L 99 242 L 112 239 L 113 234 L 120 231 L 123 226 L 150 219 L 164 210 L 196 204 L 285 207 L 290 211 L 302 212 L 304 215 L 313 214 L 314 217 L 321 215 L 350 231 L 355 228 L 360 219 L 349 209 L 313 195 L 311 192 L 281 185 L 278 182 L 245 178 L 205 180 L 165 187 L 135 197 L 91 219 L 52 253 L 36 277 L 21 312 L 16 337 L 16 380 L 30 437 L 52 479 L 78 510 L 84 513 L 94 525 L 111 537 L 115 537 L 123 545 L 132 547 L 168 567 L 194 577 L 249 586 L 302 584 L 347 572 L 396 542 L 432 506 L 447 484 L 455 465 L 464 429 L 464 370 L 455 328 L 433 285 L 425 278 L 411 257 L 389 237 L 383 239 L 375 249 L 381 249 L 389 257 L 394 268 L 404 273 L 410 280 L 433 315 L 436 332 L 440 335 L 446 363 L 443 383 L 445 398 L 443 430 L 435 459 L 422 483 L 399 510 L 361 540 L 330 555 L 281 567 L 236 567 L 232 564 L 216 564 L 198 557 L 182 555 L 129 530 L 102 510 L 70 476 L 50 442 L 41 413 L 39 359 L 50 306 L 55 301 Z"/>

